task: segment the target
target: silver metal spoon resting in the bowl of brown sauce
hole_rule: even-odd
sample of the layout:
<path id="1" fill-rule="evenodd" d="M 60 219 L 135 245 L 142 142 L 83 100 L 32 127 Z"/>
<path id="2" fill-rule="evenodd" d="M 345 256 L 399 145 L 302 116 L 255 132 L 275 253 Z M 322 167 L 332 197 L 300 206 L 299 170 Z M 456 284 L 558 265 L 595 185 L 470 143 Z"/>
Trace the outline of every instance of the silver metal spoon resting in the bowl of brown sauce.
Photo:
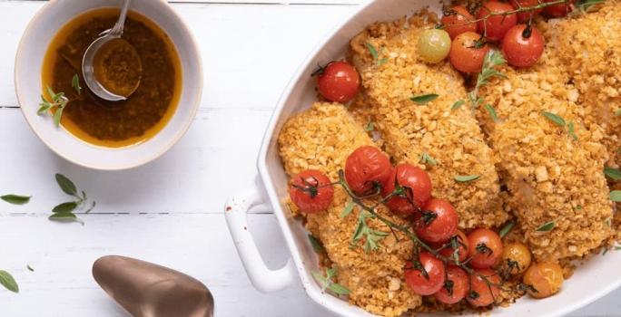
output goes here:
<path id="1" fill-rule="evenodd" d="M 138 88 L 138 84 L 140 83 L 140 80 L 138 80 L 137 82 L 134 82 L 132 86 L 128 89 L 121 90 L 123 91 L 123 93 L 115 93 L 118 91 L 110 91 L 109 89 L 106 89 L 104 84 L 100 82 L 96 76 L 97 68 L 95 67 L 95 60 L 98 57 L 97 53 L 101 51 L 100 49 L 104 47 L 105 44 L 111 43 L 111 41 L 114 41 L 114 44 L 117 47 L 121 45 L 123 46 L 124 50 L 129 50 L 131 52 L 133 51 L 133 53 L 131 53 L 133 61 L 130 62 L 137 62 L 137 68 L 142 72 L 142 65 L 140 65 L 140 57 L 138 56 L 138 53 L 135 52 L 132 44 L 121 38 L 121 35 L 123 35 L 125 18 L 127 17 L 127 11 L 129 10 L 130 3 L 131 0 L 125 0 L 125 2 L 123 3 L 123 8 L 121 9 L 121 15 L 119 16 L 119 20 L 116 22 L 116 24 L 114 24 L 112 29 L 106 30 L 99 34 L 100 37 L 98 37 L 96 40 L 94 40 L 93 43 L 91 43 L 91 45 L 88 46 L 82 59 L 82 74 L 84 75 L 84 82 L 86 82 L 88 88 L 93 91 L 95 95 L 106 101 L 126 100 L 127 97 L 129 97 L 133 93 L 133 91 Z"/>

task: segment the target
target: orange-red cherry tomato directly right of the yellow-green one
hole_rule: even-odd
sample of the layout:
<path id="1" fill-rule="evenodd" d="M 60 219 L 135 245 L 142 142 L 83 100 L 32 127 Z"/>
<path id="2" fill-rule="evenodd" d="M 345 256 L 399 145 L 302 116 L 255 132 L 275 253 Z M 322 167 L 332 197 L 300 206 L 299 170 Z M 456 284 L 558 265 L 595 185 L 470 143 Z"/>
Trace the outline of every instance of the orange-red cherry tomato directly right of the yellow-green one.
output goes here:
<path id="1" fill-rule="evenodd" d="M 488 52 L 489 46 L 481 42 L 480 34 L 466 32 L 459 34 L 450 45 L 449 59 L 459 72 L 480 72 Z"/>

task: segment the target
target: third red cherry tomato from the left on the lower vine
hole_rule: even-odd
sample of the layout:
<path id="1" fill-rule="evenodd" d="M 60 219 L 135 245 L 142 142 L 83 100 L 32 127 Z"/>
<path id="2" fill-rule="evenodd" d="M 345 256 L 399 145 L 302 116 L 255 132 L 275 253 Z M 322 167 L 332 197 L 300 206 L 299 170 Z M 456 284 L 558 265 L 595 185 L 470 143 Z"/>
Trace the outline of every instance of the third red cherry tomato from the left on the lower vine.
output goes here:
<path id="1" fill-rule="evenodd" d="M 404 193 L 390 198 L 386 206 L 399 216 L 411 216 L 424 207 L 431 199 L 431 178 L 429 174 L 411 164 L 399 164 L 392 168 L 386 186 L 381 195 L 388 197 L 394 190 L 395 184 L 403 188 Z"/>

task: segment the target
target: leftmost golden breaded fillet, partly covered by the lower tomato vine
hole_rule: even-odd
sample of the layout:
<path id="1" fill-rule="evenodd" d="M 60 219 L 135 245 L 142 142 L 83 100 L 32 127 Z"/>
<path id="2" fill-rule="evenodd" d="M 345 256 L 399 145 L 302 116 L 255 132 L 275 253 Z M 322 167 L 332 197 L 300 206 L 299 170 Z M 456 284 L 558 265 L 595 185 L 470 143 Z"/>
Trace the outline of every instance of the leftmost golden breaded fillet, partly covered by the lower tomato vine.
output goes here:
<path id="1" fill-rule="evenodd" d="M 372 140 L 344 106 L 315 103 L 311 110 L 291 117 L 279 135 L 281 159 L 290 176 L 306 168 L 319 169 L 331 180 L 338 178 L 350 153 Z M 326 212 L 306 215 L 307 228 L 323 243 L 332 264 L 338 267 L 338 282 L 348 287 L 350 303 L 385 316 L 399 316 L 420 305 L 420 296 L 411 292 L 403 280 L 406 261 L 412 256 L 412 243 L 398 234 L 380 240 L 377 251 L 365 253 L 361 245 L 350 247 L 360 210 L 340 217 L 350 201 L 344 189 L 334 187 L 334 200 Z M 369 205 L 377 201 L 368 202 Z M 291 208 L 295 208 L 290 204 Z M 293 210 L 295 213 L 296 211 Z M 401 225 L 405 220 L 391 216 L 385 207 L 378 212 Z M 389 233 L 389 227 L 368 219 L 373 229 Z"/>

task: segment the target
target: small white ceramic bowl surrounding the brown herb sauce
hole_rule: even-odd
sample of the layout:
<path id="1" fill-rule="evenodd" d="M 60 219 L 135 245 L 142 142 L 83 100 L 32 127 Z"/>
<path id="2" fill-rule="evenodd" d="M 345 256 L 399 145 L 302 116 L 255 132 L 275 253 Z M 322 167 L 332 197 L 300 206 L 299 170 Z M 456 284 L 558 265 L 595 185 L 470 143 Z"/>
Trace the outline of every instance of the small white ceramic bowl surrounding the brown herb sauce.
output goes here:
<path id="1" fill-rule="evenodd" d="M 50 116 L 38 116 L 41 69 L 48 44 L 72 18 L 99 7 L 119 7 L 121 0 L 52 0 L 28 24 L 15 58 L 15 92 L 25 119 L 56 154 L 86 168 L 125 169 L 157 159 L 182 138 L 198 110 L 202 93 L 201 55 L 181 17 L 163 0 L 133 0 L 131 10 L 145 15 L 169 35 L 182 62 L 182 95 L 173 118 L 152 139 L 121 149 L 96 147 L 57 129 Z"/>

